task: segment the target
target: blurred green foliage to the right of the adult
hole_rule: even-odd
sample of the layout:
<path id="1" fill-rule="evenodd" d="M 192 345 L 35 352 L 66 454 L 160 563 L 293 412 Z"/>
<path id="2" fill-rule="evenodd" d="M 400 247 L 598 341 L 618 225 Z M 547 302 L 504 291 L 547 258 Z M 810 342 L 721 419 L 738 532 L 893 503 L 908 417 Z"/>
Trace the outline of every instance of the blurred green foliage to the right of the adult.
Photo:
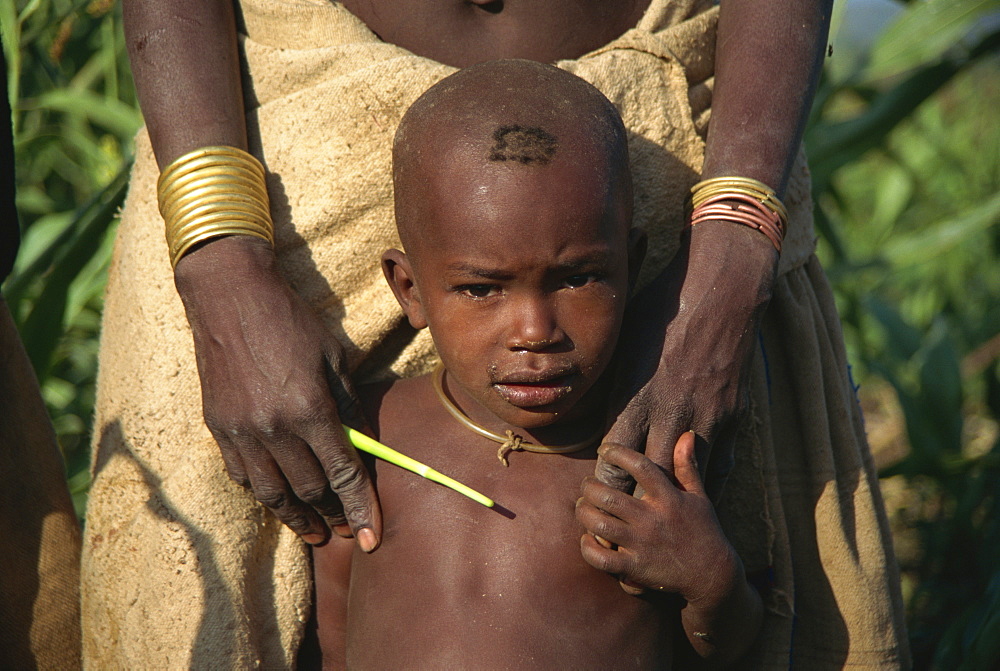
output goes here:
<path id="1" fill-rule="evenodd" d="M 998 3 L 900 9 L 817 96 L 819 251 L 862 391 L 885 380 L 902 409 L 909 452 L 882 475 L 913 508 L 916 667 L 1000 668 L 1000 442 L 970 431 L 1000 418 Z"/>

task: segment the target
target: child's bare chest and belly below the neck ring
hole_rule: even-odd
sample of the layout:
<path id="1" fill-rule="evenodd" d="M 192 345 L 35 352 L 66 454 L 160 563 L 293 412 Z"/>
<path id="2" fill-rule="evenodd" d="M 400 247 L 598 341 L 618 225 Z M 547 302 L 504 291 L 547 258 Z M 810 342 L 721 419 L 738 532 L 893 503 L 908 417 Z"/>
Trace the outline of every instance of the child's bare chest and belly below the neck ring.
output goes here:
<path id="1" fill-rule="evenodd" d="M 499 445 L 464 433 L 456 440 L 441 428 L 447 416 L 422 417 L 418 426 L 384 431 L 383 442 L 497 506 L 377 464 L 383 540 L 370 556 L 355 553 L 349 660 L 359 668 L 401 660 L 428 668 L 467 668 L 472 660 L 478 668 L 609 668 L 626 654 L 652 668 L 667 658 L 662 603 L 625 594 L 580 555 L 574 507 L 593 473 L 593 450 L 516 452 L 505 468 Z M 446 446 L 417 435 L 428 424 Z M 386 634 L 380 626 L 390 620 L 396 624 Z"/>

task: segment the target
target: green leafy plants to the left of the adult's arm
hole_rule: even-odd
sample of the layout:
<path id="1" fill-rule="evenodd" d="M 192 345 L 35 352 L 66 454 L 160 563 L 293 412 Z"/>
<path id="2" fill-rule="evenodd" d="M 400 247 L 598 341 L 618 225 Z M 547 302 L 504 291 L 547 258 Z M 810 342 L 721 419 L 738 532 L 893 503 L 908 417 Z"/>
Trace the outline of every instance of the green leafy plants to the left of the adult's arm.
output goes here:
<path id="1" fill-rule="evenodd" d="M 141 124 L 109 0 L 3 0 L 23 243 L 4 294 L 82 511 L 101 297 Z"/>

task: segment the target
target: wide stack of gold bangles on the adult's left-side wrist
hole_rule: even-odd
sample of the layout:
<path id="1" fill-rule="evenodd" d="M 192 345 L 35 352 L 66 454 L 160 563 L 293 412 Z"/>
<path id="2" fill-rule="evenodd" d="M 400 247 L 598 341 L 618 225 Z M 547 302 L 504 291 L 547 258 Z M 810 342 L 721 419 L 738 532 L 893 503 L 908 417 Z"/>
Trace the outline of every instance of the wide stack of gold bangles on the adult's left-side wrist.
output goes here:
<path id="1" fill-rule="evenodd" d="M 194 245 L 225 235 L 249 235 L 274 244 L 264 168 L 236 147 L 202 147 L 160 174 L 157 201 L 166 223 L 170 263 Z"/>

